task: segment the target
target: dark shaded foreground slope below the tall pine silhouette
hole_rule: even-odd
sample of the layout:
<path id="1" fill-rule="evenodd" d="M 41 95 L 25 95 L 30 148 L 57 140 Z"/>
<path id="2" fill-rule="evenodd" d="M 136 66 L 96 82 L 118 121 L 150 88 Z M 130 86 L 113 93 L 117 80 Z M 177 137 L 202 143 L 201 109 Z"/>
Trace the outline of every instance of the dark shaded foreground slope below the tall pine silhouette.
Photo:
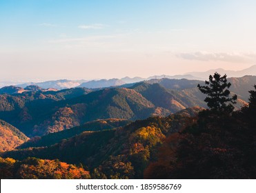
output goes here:
<path id="1" fill-rule="evenodd" d="M 194 125 L 166 138 L 144 177 L 256 179 L 255 99 L 252 90 L 249 105 L 233 114 L 216 109 L 201 112 Z"/>

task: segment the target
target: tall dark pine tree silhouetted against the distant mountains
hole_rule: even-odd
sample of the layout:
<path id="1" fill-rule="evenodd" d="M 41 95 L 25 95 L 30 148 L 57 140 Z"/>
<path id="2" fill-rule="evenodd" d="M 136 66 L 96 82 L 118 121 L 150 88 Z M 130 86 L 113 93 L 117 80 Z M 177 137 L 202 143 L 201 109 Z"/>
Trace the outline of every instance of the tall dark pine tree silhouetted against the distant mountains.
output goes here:
<path id="1" fill-rule="evenodd" d="M 228 88 L 230 88 L 231 83 L 227 81 L 226 77 L 226 74 L 221 77 L 221 74 L 215 72 L 213 76 L 209 76 L 209 81 L 205 81 L 206 85 L 197 85 L 202 93 L 208 95 L 204 101 L 210 110 L 228 113 L 234 110 L 233 104 L 236 103 L 237 95 L 229 97 Z"/>

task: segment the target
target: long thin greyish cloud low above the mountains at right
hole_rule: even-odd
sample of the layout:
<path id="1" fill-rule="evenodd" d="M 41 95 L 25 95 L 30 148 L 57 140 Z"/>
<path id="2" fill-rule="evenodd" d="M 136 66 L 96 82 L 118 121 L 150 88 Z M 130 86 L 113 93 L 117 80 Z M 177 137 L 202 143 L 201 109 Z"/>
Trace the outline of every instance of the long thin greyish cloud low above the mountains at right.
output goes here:
<path id="1" fill-rule="evenodd" d="M 197 61 L 227 61 L 235 63 L 248 63 L 256 61 L 255 53 L 236 52 L 187 52 L 176 54 L 176 57 Z"/>

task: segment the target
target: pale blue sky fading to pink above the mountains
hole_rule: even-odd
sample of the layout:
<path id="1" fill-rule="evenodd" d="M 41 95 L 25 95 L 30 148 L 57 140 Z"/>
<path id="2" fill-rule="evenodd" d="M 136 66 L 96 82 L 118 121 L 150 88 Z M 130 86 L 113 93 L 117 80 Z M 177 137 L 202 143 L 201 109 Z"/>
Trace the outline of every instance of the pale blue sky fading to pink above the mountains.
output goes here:
<path id="1" fill-rule="evenodd" d="M 256 65 L 253 0 L 0 0 L 0 80 Z"/>

